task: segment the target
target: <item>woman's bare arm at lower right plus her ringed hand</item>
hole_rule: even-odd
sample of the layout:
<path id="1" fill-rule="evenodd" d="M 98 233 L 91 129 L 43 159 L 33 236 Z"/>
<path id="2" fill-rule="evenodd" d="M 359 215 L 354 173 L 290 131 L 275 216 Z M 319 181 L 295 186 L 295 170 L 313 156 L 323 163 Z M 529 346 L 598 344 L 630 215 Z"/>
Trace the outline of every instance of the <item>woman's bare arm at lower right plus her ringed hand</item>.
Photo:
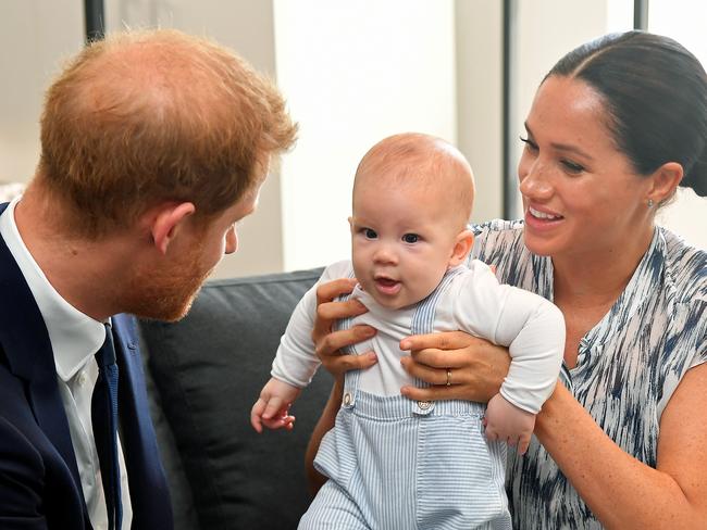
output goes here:
<path id="1" fill-rule="evenodd" d="M 413 400 L 485 402 L 503 382 L 505 349 L 464 333 L 411 337 L 402 364 L 430 388 L 402 389 Z M 417 351 L 415 351 L 417 350 Z M 451 386 L 446 386 L 451 367 Z M 561 384 L 537 416 L 535 434 L 607 528 L 707 528 L 707 365 L 685 375 L 660 421 L 654 469 L 627 454 Z"/>

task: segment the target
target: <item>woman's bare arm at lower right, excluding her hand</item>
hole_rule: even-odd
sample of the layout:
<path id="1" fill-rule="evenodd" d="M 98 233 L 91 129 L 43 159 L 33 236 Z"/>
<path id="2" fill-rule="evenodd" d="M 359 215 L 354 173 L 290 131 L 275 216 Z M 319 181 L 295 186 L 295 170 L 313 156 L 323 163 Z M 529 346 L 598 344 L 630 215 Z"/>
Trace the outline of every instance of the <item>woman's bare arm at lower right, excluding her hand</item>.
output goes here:
<path id="1" fill-rule="evenodd" d="M 624 453 L 561 384 L 535 434 L 607 528 L 707 528 L 707 365 L 685 375 L 660 420 L 654 469 Z"/>

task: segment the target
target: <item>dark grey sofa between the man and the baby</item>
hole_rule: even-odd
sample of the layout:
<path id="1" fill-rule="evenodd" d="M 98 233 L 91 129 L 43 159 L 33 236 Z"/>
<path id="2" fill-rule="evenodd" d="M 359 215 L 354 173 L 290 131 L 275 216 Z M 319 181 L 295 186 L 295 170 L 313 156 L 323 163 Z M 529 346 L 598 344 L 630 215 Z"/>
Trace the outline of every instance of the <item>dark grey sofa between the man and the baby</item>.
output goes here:
<path id="1" fill-rule="evenodd" d="M 141 321 L 141 345 L 176 528 L 296 528 L 303 456 L 331 390 L 320 370 L 295 430 L 257 434 L 250 407 L 295 305 L 321 269 L 207 282 L 176 324 Z"/>

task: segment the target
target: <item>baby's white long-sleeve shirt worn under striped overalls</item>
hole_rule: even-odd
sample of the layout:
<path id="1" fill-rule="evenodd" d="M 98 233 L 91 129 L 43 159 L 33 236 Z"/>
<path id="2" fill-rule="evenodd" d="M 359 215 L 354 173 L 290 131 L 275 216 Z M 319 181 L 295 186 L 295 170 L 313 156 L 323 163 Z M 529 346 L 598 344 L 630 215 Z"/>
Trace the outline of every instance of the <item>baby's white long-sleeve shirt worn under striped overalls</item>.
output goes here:
<path id="1" fill-rule="evenodd" d="M 511 286 L 500 285 L 491 268 L 474 260 L 454 270 L 444 289 L 430 296 L 437 331 L 461 330 L 508 346 L 511 365 L 500 393 L 516 406 L 539 412 L 557 381 L 565 350 L 562 314 L 547 300 Z M 350 261 L 326 267 L 319 283 L 352 276 Z M 420 303 L 400 310 L 381 306 L 360 286 L 354 290 L 368 313 L 351 326 L 368 324 L 377 333 L 354 346 L 356 353 L 374 351 L 379 362 L 360 374 L 359 388 L 377 395 L 397 395 L 400 387 L 414 384 L 400 358 L 408 352 L 400 340 L 413 333 L 412 320 Z M 317 316 L 317 285 L 299 302 L 273 362 L 272 376 L 298 388 L 306 387 L 319 366 L 311 332 Z"/>

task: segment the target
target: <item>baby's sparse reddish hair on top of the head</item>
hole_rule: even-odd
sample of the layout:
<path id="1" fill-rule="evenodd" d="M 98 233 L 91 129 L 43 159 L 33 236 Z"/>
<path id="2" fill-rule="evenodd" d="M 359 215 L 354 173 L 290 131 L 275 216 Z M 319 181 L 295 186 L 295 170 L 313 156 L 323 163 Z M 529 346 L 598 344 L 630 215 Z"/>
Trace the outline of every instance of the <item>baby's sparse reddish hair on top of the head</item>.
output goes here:
<path id="1" fill-rule="evenodd" d="M 361 159 L 354 179 L 355 191 L 364 178 L 368 184 L 385 179 L 385 184 L 394 186 L 442 186 L 450 211 L 459 214 L 461 228 L 471 217 L 474 200 L 471 167 L 457 148 L 441 138 L 422 132 L 384 138 Z"/>

